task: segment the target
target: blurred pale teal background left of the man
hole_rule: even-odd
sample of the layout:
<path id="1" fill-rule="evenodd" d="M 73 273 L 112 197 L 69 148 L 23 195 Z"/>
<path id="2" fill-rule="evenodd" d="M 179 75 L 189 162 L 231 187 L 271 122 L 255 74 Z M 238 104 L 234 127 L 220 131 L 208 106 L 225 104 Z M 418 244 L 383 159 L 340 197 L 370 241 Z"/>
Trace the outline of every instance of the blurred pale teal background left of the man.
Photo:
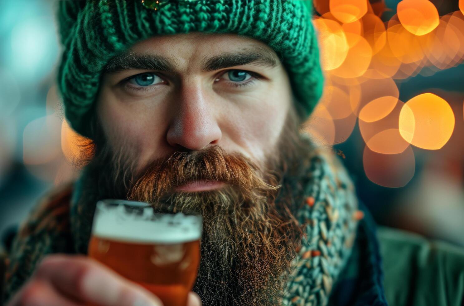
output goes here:
<path id="1" fill-rule="evenodd" d="M 0 232 L 21 221 L 66 167 L 54 86 L 61 52 L 55 6 L 0 1 Z"/>

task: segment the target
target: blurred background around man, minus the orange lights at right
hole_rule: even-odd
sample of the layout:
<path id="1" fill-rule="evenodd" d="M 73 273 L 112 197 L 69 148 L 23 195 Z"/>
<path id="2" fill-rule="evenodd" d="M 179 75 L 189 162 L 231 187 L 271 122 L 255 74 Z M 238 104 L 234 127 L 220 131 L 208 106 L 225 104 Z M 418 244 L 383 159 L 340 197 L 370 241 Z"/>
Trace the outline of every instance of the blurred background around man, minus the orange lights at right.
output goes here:
<path id="1" fill-rule="evenodd" d="M 459 10 L 458 0 L 432 2 L 440 16 Z M 397 3 L 385 1 L 389 10 L 382 20 L 396 13 Z M 63 134 L 67 127 L 55 85 L 61 52 L 54 19 L 56 4 L 51 0 L 0 1 L 0 233 L 18 225 L 46 190 L 77 176 L 66 155 Z M 461 64 L 430 76 L 396 80 L 401 101 L 435 93 L 450 104 L 456 120 L 451 138 L 440 150 L 412 146 L 414 176 L 404 187 L 382 187 L 367 178 L 365 144 L 357 126 L 346 141 L 334 145 L 343 152 L 342 161 L 357 192 L 377 222 L 461 246 L 463 76 Z"/>

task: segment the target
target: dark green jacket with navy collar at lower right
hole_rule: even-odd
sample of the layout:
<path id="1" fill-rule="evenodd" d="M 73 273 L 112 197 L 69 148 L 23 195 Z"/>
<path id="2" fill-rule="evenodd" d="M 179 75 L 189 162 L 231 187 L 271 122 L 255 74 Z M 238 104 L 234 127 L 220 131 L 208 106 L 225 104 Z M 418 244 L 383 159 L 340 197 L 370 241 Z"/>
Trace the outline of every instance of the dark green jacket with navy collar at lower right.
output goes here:
<path id="1" fill-rule="evenodd" d="M 365 217 L 330 306 L 464 306 L 464 249 Z M 463 233 L 464 234 L 464 233 Z"/>

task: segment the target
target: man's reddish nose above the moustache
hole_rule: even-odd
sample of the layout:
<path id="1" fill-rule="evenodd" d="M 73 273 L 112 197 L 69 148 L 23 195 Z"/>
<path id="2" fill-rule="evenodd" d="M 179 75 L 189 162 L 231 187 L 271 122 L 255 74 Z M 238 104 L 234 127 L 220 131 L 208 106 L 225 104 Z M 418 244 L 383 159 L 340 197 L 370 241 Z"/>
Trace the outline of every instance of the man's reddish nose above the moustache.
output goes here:
<path id="1" fill-rule="evenodd" d="M 180 99 L 173 104 L 168 143 L 189 150 L 200 150 L 208 144 L 218 143 L 221 130 L 211 103 L 206 101 L 198 87 L 183 91 Z"/>

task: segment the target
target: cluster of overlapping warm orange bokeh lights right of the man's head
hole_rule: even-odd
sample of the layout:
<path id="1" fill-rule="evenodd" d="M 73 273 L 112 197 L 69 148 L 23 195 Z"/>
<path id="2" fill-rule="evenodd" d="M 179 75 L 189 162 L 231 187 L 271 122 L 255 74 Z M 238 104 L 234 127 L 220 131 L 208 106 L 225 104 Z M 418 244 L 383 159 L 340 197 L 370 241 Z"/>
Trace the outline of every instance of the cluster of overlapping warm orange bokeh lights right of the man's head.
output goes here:
<path id="1" fill-rule="evenodd" d="M 344 142 L 358 122 L 369 180 L 403 187 L 415 171 L 411 145 L 439 150 L 453 133 L 455 117 L 462 117 L 432 93 L 399 100 L 397 84 L 463 62 L 464 0 L 460 11 L 443 16 L 429 0 L 402 0 L 387 21 L 380 19 L 387 10 L 383 0 L 313 2 L 326 82 L 302 130 L 332 146 Z"/>

